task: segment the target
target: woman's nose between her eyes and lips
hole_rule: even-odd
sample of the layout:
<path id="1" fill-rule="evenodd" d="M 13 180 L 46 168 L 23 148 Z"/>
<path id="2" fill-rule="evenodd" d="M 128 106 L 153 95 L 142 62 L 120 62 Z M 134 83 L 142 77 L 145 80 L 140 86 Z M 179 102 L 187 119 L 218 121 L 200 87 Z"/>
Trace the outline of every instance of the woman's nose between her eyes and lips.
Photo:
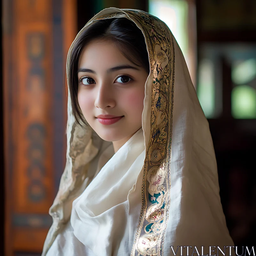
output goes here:
<path id="1" fill-rule="evenodd" d="M 111 85 L 106 83 L 98 84 L 96 89 L 96 98 L 94 106 L 96 108 L 114 108 L 116 106 L 116 101 L 114 98 L 114 93 L 112 92 Z"/>

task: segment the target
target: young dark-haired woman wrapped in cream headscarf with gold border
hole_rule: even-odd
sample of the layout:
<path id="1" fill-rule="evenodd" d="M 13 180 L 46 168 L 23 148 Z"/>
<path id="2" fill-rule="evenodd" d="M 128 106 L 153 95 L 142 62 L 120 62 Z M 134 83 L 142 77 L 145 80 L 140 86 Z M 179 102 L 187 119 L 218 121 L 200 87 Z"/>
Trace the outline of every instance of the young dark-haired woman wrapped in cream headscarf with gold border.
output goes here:
<path id="1" fill-rule="evenodd" d="M 232 246 L 208 122 L 164 22 L 101 11 L 71 45 L 67 76 L 67 164 L 42 255 Z"/>

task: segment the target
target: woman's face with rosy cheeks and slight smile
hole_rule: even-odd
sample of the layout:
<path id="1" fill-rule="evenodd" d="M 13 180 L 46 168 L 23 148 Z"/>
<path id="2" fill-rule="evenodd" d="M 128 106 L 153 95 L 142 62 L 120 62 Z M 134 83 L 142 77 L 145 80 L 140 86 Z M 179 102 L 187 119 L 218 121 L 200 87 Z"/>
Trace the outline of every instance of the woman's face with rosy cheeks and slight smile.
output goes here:
<path id="1" fill-rule="evenodd" d="M 78 103 L 92 129 L 103 140 L 129 140 L 142 126 L 146 70 L 113 42 L 94 40 L 81 52 L 77 76 Z"/>

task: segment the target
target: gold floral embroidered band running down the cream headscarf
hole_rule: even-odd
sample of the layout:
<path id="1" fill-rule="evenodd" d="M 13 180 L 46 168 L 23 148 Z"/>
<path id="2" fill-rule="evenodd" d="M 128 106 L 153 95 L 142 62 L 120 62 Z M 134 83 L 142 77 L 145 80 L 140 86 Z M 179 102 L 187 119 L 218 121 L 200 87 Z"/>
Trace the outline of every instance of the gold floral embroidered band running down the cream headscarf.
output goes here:
<path id="1" fill-rule="evenodd" d="M 125 12 L 130 18 L 137 20 L 144 30 L 153 73 L 151 139 L 144 163 L 140 222 L 131 255 L 163 255 L 171 188 L 170 158 L 175 61 L 173 39 L 167 26 L 156 17 L 141 11 L 125 10 Z"/>

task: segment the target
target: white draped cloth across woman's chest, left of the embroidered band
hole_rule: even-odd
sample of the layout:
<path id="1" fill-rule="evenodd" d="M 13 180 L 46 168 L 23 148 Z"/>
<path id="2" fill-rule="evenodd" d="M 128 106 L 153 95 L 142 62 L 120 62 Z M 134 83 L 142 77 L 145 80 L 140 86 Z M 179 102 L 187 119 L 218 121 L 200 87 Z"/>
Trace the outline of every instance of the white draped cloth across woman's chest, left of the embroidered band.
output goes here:
<path id="1" fill-rule="evenodd" d="M 47 256 L 130 254 L 141 209 L 142 128 L 112 155 L 110 145 L 100 156 L 96 177 L 73 202 L 70 221 Z"/>

